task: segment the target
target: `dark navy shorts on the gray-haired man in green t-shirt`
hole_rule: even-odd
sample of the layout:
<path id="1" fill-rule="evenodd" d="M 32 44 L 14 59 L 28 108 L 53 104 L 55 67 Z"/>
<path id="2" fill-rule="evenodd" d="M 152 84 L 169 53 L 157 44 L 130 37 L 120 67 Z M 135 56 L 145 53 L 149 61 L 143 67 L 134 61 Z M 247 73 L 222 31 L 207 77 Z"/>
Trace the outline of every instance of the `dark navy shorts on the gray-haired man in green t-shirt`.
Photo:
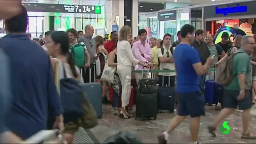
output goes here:
<path id="1" fill-rule="evenodd" d="M 225 108 L 237 109 L 237 106 L 239 106 L 239 109 L 246 110 L 252 107 L 252 98 L 249 90 L 245 91 L 245 97 L 241 100 L 237 100 L 240 91 L 234 91 L 225 88 L 223 90 L 223 103 Z"/>

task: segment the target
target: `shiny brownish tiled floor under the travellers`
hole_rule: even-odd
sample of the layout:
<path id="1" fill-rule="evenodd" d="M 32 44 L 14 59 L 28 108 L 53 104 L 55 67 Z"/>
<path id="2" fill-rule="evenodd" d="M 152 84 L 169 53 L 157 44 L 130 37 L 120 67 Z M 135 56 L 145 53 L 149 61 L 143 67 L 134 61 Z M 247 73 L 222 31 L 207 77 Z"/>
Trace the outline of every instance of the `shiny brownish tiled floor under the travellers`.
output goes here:
<path id="1" fill-rule="evenodd" d="M 157 135 L 164 132 L 167 128 L 171 118 L 175 114 L 161 113 L 158 114 L 157 120 L 140 121 L 134 118 L 120 119 L 110 113 L 111 106 L 103 106 L 103 117 L 99 119 L 99 125 L 92 129 L 94 135 L 100 142 L 103 142 L 107 137 L 112 136 L 120 130 L 128 130 L 136 134 L 144 143 L 157 143 Z M 207 125 L 214 121 L 214 118 L 220 111 L 216 111 L 214 106 L 206 106 L 206 116 L 201 118 L 199 141 L 201 143 L 255 143 L 256 140 L 241 139 L 242 120 L 241 112 L 235 111 L 232 115 L 227 117 L 231 131 L 229 134 L 223 135 L 220 132 L 220 126 L 217 130 L 217 137 L 211 137 L 208 133 Z M 256 134 L 256 109 L 253 107 L 251 111 L 251 132 Z M 170 134 L 168 143 L 189 143 L 190 118 L 187 118 L 183 123 L 177 127 L 173 133 Z M 236 128 L 236 130 L 232 130 Z"/>

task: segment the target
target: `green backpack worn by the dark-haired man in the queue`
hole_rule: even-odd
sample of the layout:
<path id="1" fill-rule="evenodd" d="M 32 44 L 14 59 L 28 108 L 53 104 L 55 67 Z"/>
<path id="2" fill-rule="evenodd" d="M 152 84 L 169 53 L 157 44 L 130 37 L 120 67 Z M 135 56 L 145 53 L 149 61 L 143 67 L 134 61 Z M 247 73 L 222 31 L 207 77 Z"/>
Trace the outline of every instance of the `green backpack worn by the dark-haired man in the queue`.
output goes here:
<path id="1" fill-rule="evenodd" d="M 75 60 L 75 65 L 77 67 L 84 67 L 85 65 L 85 45 L 81 45 L 80 43 L 78 43 L 75 46 L 71 46 L 70 47 L 70 51 L 72 53 L 72 56 Z"/>

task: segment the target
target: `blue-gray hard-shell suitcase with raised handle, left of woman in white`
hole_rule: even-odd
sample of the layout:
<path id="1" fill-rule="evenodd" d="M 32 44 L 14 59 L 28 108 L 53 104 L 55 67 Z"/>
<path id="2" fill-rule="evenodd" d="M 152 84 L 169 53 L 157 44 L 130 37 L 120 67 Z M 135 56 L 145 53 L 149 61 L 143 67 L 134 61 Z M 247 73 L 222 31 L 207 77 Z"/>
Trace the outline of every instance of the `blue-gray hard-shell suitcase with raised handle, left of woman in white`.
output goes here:
<path id="1" fill-rule="evenodd" d="M 95 70 L 95 65 L 94 70 Z M 95 72 L 94 72 L 95 73 Z M 95 81 L 95 74 L 94 74 L 94 81 Z M 92 79 L 92 69 L 89 70 L 89 81 L 91 82 Z M 82 89 L 87 93 L 87 97 L 91 102 L 92 106 L 96 111 L 96 115 L 98 118 L 102 117 L 102 86 L 99 82 L 92 82 L 92 83 L 83 83 Z"/>

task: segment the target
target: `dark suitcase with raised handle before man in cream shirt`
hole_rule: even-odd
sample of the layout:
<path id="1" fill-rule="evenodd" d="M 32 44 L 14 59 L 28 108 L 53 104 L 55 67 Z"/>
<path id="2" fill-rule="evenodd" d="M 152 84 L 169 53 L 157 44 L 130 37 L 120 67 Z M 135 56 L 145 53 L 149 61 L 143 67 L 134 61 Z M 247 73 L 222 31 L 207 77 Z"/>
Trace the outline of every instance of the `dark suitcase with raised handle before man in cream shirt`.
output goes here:
<path id="1" fill-rule="evenodd" d="M 160 75 L 159 75 L 160 77 Z M 169 110 L 173 113 L 175 109 L 175 88 L 170 87 L 170 76 L 168 76 L 168 87 L 164 86 L 164 76 L 163 77 L 163 87 L 158 87 L 158 110 Z"/>

